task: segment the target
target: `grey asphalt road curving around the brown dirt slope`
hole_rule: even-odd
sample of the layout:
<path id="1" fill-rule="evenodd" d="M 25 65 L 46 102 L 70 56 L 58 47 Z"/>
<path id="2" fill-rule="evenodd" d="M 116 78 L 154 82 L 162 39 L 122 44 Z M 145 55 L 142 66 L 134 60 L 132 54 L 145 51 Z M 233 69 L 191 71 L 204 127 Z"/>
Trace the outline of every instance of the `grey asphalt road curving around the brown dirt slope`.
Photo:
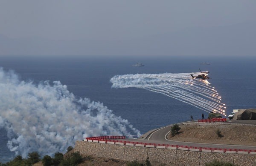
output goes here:
<path id="1" fill-rule="evenodd" d="M 252 122 L 253 121 L 253 122 Z M 227 123 L 235 123 L 235 121 L 228 121 Z M 247 124 L 248 122 L 244 121 L 239 123 Z M 180 123 L 182 124 L 182 123 Z M 256 120 L 250 120 L 250 124 L 256 124 Z M 184 146 L 196 146 L 196 147 L 206 147 L 206 148 L 222 148 L 222 149 L 252 149 L 256 150 L 256 146 L 244 146 L 244 145 L 225 145 L 225 144 L 209 144 L 209 143 L 192 143 L 192 142 L 179 142 L 167 140 L 166 136 L 170 132 L 172 125 L 165 126 L 163 128 L 151 130 L 148 133 L 145 133 L 142 139 L 126 139 L 134 142 L 143 142 L 143 143 L 161 143 L 161 144 L 172 144 L 172 145 L 184 145 Z"/>

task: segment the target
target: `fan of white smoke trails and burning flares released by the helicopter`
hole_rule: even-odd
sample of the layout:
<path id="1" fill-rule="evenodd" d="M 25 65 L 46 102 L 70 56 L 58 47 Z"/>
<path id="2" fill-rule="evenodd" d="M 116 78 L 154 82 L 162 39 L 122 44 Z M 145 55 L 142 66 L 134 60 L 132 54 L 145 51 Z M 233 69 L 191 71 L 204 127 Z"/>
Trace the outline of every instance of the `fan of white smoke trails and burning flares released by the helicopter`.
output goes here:
<path id="1" fill-rule="evenodd" d="M 200 74 L 200 73 L 196 73 Z M 188 103 L 206 112 L 225 115 L 221 97 L 207 80 L 192 79 L 190 73 L 125 74 L 111 78 L 112 88 L 142 88 Z M 226 116 L 226 115 L 225 115 Z"/>

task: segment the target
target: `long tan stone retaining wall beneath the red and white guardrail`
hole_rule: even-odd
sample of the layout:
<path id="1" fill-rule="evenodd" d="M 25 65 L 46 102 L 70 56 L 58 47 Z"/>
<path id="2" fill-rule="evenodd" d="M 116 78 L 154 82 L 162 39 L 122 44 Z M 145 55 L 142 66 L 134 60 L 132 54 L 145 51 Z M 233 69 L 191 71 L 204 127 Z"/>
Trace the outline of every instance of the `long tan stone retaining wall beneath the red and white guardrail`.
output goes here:
<path id="1" fill-rule="evenodd" d="M 256 155 L 193 152 L 178 149 L 160 149 L 125 146 L 108 143 L 76 141 L 75 152 L 121 160 L 149 160 L 177 166 L 204 166 L 213 160 L 230 162 L 239 166 L 256 166 Z"/>

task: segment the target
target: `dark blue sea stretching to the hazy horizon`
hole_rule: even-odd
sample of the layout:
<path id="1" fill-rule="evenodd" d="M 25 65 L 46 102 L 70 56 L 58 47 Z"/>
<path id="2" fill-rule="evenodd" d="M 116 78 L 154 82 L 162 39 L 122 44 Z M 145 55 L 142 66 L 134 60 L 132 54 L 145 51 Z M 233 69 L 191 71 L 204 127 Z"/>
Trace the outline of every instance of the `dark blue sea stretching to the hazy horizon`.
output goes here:
<path id="1" fill-rule="evenodd" d="M 210 63 L 203 65 L 201 63 Z M 143 67 L 133 67 L 143 63 Z M 256 108 L 256 56 L 0 56 L 0 67 L 20 80 L 58 80 L 77 98 L 99 101 L 143 134 L 169 124 L 200 119 L 207 112 L 163 94 L 137 88 L 111 88 L 110 79 L 123 74 L 194 73 L 209 71 L 209 82 L 233 109 Z M 197 103 L 195 103 L 196 105 Z M 18 119 L 17 119 L 18 120 Z M 7 132 L 0 128 L 0 162 L 14 156 L 7 148 Z"/>

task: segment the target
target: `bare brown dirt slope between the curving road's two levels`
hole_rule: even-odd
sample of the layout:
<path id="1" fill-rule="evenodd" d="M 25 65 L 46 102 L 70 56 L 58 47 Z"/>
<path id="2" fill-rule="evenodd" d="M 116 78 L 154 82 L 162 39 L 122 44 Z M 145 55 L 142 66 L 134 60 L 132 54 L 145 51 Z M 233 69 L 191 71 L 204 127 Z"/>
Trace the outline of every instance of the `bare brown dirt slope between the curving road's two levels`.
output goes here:
<path id="1" fill-rule="evenodd" d="M 256 146 L 256 126 L 184 124 L 180 127 L 178 135 L 168 135 L 169 140 Z M 223 137 L 218 137 L 217 129 Z"/>

